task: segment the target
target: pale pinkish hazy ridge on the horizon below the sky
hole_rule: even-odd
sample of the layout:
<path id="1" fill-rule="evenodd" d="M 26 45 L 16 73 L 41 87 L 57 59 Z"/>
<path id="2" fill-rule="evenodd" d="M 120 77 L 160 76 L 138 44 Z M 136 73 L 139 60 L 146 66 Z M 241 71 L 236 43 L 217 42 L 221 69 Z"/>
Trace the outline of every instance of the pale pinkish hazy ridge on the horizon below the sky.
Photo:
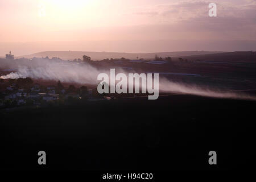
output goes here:
<path id="1" fill-rule="evenodd" d="M 152 53 L 125 53 L 125 52 L 88 52 L 88 51 L 46 51 L 38 52 L 31 55 L 18 56 L 26 57 L 28 59 L 32 57 L 60 57 L 63 60 L 82 59 L 83 55 L 90 56 L 92 60 L 102 60 L 107 58 L 121 58 L 126 59 L 154 59 L 155 55 L 159 57 L 179 57 L 179 56 L 193 56 L 193 55 L 208 55 L 220 52 L 210 51 L 181 51 L 181 52 L 152 52 Z"/>

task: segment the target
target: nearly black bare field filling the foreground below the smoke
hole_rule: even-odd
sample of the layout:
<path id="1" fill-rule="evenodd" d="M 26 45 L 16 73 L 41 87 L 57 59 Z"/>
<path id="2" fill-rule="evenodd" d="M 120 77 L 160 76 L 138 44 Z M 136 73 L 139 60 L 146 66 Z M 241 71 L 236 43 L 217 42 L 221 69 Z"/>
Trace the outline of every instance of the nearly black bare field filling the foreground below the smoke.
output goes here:
<path id="1" fill-rule="evenodd" d="M 1 169 L 250 169 L 253 101 L 189 95 L 1 111 Z M 47 165 L 38 165 L 38 151 Z M 217 166 L 208 152 L 217 152 Z"/>

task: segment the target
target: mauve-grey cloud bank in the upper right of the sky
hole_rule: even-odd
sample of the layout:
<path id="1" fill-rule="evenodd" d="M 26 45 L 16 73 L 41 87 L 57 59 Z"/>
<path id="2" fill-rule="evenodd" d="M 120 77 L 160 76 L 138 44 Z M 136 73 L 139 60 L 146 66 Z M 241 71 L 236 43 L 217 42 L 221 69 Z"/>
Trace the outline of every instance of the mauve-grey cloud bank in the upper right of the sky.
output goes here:
<path id="1" fill-rule="evenodd" d="M 164 32 L 174 35 L 179 31 L 199 38 L 207 34 L 210 39 L 256 40 L 256 1 L 255 0 L 216 0 L 217 17 L 208 15 L 207 0 L 186 0 L 146 7 L 136 7 L 137 16 L 147 16 L 152 24 Z M 147 12 L 147 13 L 143 13 Z M 154 12 L 154 17 L 152 17 Z M 189 34 L 190 33 L 190 34 Z M 162 32 L 159 34 L 162 35 Z"/>

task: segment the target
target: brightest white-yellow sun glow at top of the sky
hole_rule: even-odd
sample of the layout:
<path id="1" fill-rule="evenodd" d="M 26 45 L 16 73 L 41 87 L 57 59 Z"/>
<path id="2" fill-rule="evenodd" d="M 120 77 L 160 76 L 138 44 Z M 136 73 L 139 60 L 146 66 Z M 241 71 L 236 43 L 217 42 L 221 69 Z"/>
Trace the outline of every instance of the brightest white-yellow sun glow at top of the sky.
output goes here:
<path id="1" fill-rule="evenodd" d="M 40 24 L 51 30 L 80 26 L 95 20 L 97 0 L 41 0 Z"/>

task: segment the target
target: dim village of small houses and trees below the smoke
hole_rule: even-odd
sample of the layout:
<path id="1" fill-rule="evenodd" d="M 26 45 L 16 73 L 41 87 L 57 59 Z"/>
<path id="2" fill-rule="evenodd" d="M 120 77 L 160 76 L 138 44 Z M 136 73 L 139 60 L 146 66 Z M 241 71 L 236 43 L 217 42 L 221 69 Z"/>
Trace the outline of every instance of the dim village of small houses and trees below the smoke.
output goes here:
<path id="1" fill-rule="evenodd" d="M 109 98 L 98 94 L 96 89 L 74 85 L 65 88 L 60 81 L 46 86 L 34 83 L 31 78 L 0 80 L 0 109 L 69 105 L 106 99 Z"/>

